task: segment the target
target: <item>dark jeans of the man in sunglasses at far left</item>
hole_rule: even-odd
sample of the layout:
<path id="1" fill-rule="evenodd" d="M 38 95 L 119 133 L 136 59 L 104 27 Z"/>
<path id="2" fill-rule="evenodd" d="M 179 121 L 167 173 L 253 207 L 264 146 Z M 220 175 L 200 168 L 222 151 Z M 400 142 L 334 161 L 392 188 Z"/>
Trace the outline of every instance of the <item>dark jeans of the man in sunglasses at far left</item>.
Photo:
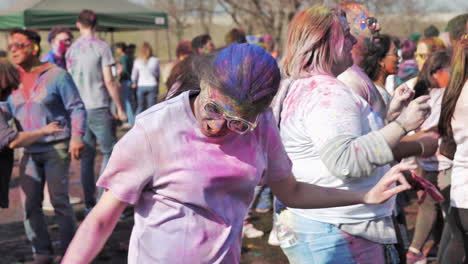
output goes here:
<path id="1" fill-rule="evenodd" d="M 24 228 L 33 251 L 51 255 L 52 243 L 42 212 L 44 184 L 47 182 L 55 218 L 59 225 L 60 252 L 64 254 L 76 230 L 75 214 L 68 197 L 70 155 L 67 149 L 25 153 L 20 164 L 20 185 L 25 195 Z"/>

